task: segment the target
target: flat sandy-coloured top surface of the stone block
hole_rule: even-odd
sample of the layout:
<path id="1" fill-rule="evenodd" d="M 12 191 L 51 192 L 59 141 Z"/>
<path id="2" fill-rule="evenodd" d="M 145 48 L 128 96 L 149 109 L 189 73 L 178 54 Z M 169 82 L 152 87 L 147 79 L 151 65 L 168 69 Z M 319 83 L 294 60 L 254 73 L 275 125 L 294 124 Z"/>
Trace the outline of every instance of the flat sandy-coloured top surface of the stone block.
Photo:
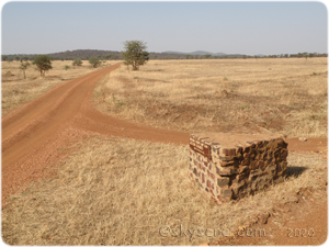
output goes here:
<path id="1" fill-rule="evenodd" d="M 279 134 L 193 133 L 191 135 L 204 138 L 205 142 L 217 143 L 222 147 L 250 146 L 248 142 L 284 139 Z"/>

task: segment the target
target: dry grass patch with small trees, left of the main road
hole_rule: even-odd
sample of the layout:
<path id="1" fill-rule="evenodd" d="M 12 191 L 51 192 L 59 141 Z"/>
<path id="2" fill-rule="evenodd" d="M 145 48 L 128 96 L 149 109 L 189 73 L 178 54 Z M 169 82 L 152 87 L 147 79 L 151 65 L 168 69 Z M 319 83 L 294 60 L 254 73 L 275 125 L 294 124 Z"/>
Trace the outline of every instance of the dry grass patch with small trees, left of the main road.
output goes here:
<path id="1" fill-rule="evenodd" d="M 52 63 L 53 69 L 46 72 L 46 77 L 41 77 L 35 66 L 30 66 L 24 79 L 20 64 L 20 61 L 0 61 L 0 116 L 64 81 L 94 70 L 88 61 L 83 61 L 81 67 L 73 67 L 71 60 L 56 60 Z M 70 66 L 70 69 L 66 70 L 65 65 Z"/>

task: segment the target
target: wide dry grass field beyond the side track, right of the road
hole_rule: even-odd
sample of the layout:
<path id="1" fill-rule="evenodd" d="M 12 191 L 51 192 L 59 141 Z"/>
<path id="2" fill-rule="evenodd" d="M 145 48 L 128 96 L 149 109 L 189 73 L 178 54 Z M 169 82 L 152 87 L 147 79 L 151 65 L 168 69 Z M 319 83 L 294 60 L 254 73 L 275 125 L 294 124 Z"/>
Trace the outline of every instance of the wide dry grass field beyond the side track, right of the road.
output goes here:
<path id="1" fill-rule="evenodd" d="M 186 132 L 326 136 L 329 58 L 151 60 L 99 83 L 109 114 Z"/>

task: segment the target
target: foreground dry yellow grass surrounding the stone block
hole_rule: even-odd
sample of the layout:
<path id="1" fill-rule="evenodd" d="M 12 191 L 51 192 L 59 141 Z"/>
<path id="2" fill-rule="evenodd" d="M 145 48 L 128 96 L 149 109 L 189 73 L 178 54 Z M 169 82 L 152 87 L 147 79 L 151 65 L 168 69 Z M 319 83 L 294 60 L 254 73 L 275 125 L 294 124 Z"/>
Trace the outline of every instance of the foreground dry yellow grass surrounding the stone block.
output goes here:
<path id="1" fill-rule="evenodd" d="M 13 195 L 1 211 L 4 246 L 192 246 L 212 238 L 194 233 L 190 240 L 188 229 L 228 235 L 273 204 L 295 201 L 300 188 L 317 189 L 328 166 L 317 155 L 291 154 L 284 183 L 218 206 L 189 180 L 185 146 L 92 137 L 75 149 L 57 177 Z M 163 225 L 182 225 L 188 236 L 161 237 Z"/>

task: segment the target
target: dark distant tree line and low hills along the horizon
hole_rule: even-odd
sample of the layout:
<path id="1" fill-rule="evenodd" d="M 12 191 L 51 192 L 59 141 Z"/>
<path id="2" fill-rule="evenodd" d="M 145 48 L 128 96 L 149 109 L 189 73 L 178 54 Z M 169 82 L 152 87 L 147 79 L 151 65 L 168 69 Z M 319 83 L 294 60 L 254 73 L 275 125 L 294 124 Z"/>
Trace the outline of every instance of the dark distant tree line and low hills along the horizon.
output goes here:
<path id="1" fill-rule="evenodd" d="M 63 53 L 46 54 L 52 58 L 52 60 L 90 60 L 93 57 L 97 57 L 99 60 L 121 60 L 123 59 L 120 52 L 112 50 L 98 50 L 98 49 L 77 49 L 77 50 L 67 50 Z M 37 54 L 25 55 L 25 54 L 14 54 L 14 55 L 0 55 L 0 61 L 33 61 Z M 248 56 L 242 54 L 228 54 L 222 56 L 214 56 L 212 54 L 205 55 L 191 55 L 191 54 L 181 54 L 181 53 L 149 53 L 149 59 L 234 59 L 234 58 L 288 58 L 288 57 L 298 57 L 298 58 L 311 58 L 311 57 L 329 57 L 329 53 L 298 53 L 298 54 L 275 54 L 266 56 Z"/>

